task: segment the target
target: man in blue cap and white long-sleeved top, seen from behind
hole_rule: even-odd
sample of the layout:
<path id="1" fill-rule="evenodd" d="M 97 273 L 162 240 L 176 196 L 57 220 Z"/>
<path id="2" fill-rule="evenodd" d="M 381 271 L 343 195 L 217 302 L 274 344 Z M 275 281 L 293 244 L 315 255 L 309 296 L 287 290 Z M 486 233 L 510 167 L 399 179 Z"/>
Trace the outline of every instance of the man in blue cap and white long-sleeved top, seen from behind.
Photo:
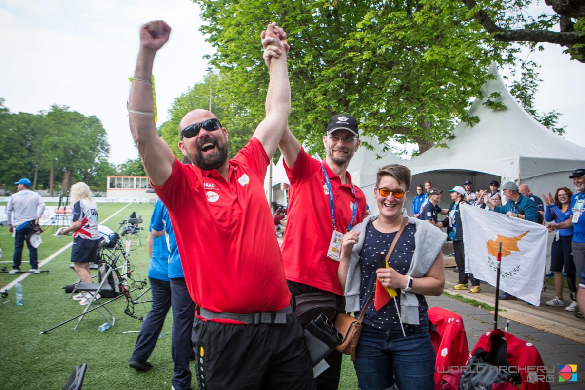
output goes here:
<path id="1" fill-rule="evenodd" d="M 15 182 L 18 191 L 10 195 L 6 205 L 8 216 L 8 229 L 14 233 L 14 254 L 12 255 L 12 270 L 9 274 L 15 274 L 20 270 L 22 263 L 22 249 L 25 246 L 25 238 L 32 232 L 33 227 L 39 222 L 44 213 L 44 201 L 38 192 L 30 191 L 32 183 L 27 178 Z M 14 215 L 13 215 L 14 214 Z M 30 270 L 39 273 L 37 267 L 37 249 L 28 240 Z"/>

